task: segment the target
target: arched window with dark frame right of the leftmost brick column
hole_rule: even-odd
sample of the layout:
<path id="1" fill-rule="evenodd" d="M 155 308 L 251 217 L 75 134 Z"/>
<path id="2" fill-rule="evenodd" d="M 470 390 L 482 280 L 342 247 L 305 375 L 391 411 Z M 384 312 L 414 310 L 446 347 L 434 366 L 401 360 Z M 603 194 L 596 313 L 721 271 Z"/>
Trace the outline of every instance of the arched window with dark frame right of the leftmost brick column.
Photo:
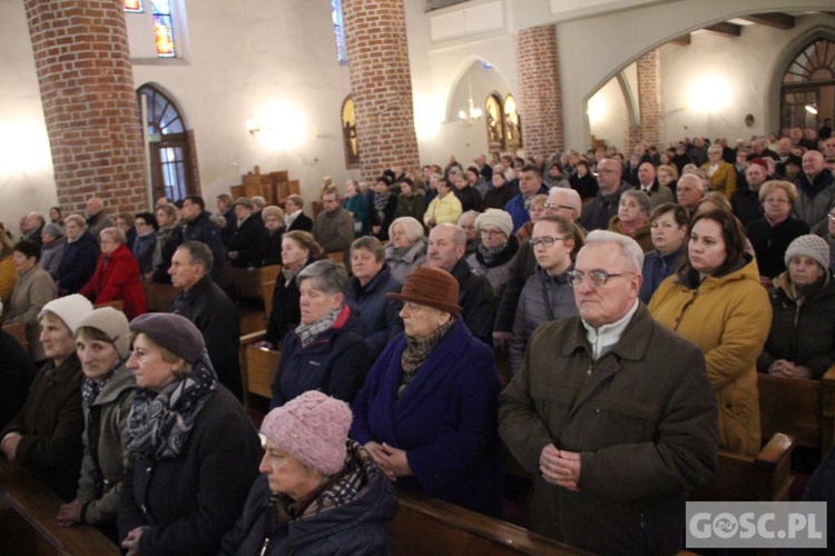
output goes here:
<path id="1" fill-rule="evenodd" d="M 150 151 L 150 177 L 154 200 L 167 197 L 180 200 L 197 192 L 193 162 L 193 138 L 174 101 L 151 85 L 137 91 L 146 98 L 148 117 L 148 146 Z"/>

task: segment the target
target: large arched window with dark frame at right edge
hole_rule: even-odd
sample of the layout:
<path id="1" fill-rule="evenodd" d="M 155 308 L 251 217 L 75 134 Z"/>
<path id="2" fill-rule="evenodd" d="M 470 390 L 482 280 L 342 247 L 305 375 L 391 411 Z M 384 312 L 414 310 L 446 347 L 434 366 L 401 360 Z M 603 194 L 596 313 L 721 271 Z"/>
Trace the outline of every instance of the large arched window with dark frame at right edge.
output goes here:
<path id="1" fill-rule="evenodd" d="M 811 127 L 835 112 L 835 42 L 816 39 L 807 44 L 783 76 L 780 127 Z"/>

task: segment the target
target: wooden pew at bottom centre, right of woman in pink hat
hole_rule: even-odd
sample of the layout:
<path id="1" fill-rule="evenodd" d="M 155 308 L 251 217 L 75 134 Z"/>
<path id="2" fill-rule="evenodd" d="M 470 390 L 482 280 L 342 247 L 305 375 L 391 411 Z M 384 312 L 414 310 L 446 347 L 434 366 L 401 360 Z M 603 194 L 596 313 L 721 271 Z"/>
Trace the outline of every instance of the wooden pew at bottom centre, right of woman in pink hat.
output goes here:
<path id="1" fill-rule="evenodd" d="M 522 527 L 453 504 L 399 493 L 389 522 L 394 554 L 586 554 Z"/>

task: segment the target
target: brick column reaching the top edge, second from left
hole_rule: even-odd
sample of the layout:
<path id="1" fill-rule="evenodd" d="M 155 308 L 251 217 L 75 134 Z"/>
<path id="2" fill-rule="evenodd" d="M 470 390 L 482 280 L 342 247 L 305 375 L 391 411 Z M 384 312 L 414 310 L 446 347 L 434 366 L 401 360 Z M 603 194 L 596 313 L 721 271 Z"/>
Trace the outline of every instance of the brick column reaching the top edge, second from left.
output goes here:
<path id="1" fill-rule="evenodd" d="M 343 0 L 362 179 L 418 168 L 403 0 Z"/>

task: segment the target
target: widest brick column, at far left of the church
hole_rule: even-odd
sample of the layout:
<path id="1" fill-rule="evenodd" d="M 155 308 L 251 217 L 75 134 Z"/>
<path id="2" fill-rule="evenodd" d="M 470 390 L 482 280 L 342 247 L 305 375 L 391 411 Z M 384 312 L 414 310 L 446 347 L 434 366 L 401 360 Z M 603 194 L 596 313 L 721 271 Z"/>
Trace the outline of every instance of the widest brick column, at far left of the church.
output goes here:
<path id="1" fill-rule="evenodd" d="M 121 2 L 24 0 L 58 202 L 147 209 L 145 155 Z"/>

